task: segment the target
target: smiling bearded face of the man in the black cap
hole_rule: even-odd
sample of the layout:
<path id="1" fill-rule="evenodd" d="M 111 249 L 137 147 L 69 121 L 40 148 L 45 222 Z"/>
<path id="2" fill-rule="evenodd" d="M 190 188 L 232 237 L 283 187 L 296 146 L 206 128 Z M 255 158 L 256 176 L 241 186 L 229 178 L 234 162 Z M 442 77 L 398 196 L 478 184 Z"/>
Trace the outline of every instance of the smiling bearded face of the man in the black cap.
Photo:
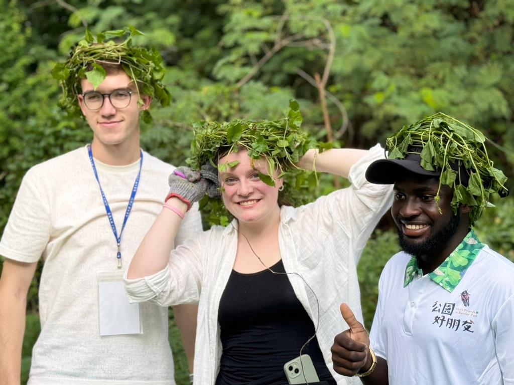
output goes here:
<path id="1" fill-rule="evenodd" d="M 459 213 L 450 206 L 452 190 L 442 185 L 435 202 L 437 178 L 405 178 L 394 185 L 391 214 L 398 228 L 401 248 L 421 257 L 442 252 L 452 243 L 460 226 Z M 440 209 L 440 211 L 439 211 Z"/>

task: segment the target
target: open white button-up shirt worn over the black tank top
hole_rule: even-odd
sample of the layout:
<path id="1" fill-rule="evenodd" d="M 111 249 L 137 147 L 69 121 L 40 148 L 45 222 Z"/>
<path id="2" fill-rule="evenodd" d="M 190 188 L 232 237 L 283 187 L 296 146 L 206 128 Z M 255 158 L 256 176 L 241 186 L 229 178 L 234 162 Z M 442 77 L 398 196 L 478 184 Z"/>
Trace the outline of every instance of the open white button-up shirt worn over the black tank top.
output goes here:
<path id="1" fill-rule="evenodd" d="M 392 201 L 392 185 L 369 183 L 364 174 L 371 162 L 383 156 L 379 145 L 373 147 L 352 166 L 348 177 L 351 187 L 305 206 L 282 206 L 280 211 L 279 246 L 285 271 L 305 279 L 288 275 L 297 298 L 318 326 L 325 363 L 340 385 L 361 382 L 334 372 L 330 348 L 336 334 L 348 329 L 339 311 L 341 302 L 347 302 L 362 321 L 357 263 Z M 194 365 L 195 383 L 199 385 L 215 383 L 219 368 L 222 344 L 218 307 L 237 251 L 234 226 L 236 221 L 227 227 L 212 227 L 177 247 L 169 266 L 161 272 L 125 280 L 127 294 L 136 302 L 152 300 L 169 305 L 199 300 Z"/>

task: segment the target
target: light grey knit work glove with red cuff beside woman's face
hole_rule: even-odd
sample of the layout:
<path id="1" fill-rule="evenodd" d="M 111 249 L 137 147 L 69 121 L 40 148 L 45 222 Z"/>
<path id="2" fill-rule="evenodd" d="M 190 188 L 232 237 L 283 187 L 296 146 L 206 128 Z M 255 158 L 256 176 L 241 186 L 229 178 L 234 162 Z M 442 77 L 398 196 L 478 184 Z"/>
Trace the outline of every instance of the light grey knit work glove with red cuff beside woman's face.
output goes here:
<path id="1" fill-rule="evenodd" d="M 170 192 L 164 200 L 177 197 L 188 205 L 188 210 L 194 202 L 204 197 L 208 181 L 201 178 L 200 171 L 193 171 L 189 167 L 177 167 L 168 178 Z"/>

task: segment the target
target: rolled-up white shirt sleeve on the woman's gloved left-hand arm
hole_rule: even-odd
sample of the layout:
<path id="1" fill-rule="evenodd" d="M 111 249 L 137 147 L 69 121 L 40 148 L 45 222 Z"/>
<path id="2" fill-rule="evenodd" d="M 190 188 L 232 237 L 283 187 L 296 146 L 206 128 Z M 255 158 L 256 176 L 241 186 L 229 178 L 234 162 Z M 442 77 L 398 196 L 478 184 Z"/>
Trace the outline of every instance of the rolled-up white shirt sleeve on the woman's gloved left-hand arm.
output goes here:
<path id="1" fill-rule="evenodd" d="M 160 272 L 138 279 L 123 276 L 130 302 L 152 301 L 161 306 L 198 302 L 201 289 L 201 241 L 189 238 L 171 252 Z"/>

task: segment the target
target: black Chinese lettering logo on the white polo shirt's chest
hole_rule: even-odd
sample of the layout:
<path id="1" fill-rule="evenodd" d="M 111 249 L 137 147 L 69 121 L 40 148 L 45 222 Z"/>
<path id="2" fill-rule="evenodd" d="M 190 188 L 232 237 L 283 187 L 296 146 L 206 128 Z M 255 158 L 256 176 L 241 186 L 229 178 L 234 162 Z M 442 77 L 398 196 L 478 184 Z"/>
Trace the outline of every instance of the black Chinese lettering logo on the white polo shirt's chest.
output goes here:
<path id="1" fill-rule="evenodd" d="M 454 332 L 474 333 L 473 325 L 479 312 L 467 309 L 469 306 L 469 293 L 467 290 L 461 293 L 461 301 L 465 307 L 456 306 L 454 302 L 435 301 L 432 304 L 432 313 L 434 316 L 432 325 L 438 328 L 453 330 Z"/>

